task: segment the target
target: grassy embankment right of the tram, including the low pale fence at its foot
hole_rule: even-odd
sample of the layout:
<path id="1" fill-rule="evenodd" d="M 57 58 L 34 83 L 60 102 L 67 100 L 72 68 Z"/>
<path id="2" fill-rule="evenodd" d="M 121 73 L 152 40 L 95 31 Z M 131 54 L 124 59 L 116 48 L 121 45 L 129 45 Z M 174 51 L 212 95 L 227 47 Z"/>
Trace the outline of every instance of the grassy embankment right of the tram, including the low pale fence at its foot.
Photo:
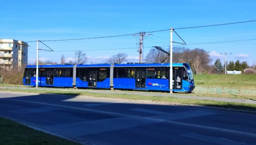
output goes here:
<path id="1" fill-rule="evenodd" d="M 196 96 L 256 100 L 256 75 L 195 75 Z"/>

